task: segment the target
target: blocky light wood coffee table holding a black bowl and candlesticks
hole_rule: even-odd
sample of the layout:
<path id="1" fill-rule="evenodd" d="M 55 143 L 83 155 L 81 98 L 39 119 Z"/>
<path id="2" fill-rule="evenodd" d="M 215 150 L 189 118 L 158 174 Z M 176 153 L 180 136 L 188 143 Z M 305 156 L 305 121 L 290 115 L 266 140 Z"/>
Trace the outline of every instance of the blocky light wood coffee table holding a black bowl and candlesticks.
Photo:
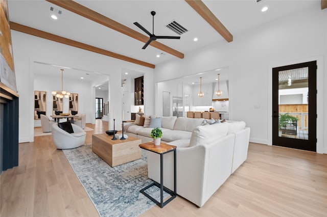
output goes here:
<path id="1" fill-rule="evenodd" d="M 142 143 L 140 139 L 128 137 L 126 140 L 111 140 L 112 135 L 106 133 L 92 135 L 92 151 L 108 165 L 115 167 L 127 162 L 141 159 Z"/>

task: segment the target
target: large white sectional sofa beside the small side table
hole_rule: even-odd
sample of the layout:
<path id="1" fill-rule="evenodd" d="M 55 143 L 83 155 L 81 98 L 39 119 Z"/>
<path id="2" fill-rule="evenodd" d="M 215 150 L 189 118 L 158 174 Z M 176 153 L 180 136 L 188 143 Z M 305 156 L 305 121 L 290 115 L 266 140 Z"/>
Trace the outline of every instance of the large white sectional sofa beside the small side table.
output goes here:
<path id="1" fill-rule="evenodd" d="M 198 207 L 246 160 L 250 137 L 243 121 L 202 126 L 203 120 L 162 117 L 162 141 L 177 146 L 177 194 Z M 152 128 L 141 127 L 132 125 L 127 133 L 151 141 Z M 164 185 L 169 189 L 174 188 L 173 163 L 173 153 L 165 154 Z M 160 182 L 159 168 L 160 156 L 148 151 L 148 176 L 156 182 Z"/>

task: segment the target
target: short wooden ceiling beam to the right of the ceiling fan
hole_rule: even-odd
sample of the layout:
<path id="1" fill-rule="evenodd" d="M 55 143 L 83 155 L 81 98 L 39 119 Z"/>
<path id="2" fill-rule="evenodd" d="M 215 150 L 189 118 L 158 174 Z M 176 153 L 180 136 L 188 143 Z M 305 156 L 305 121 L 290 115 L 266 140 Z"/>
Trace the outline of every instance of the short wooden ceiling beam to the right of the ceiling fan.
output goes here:
<path id="1" fill-rule="evenodd" d="M 185 0 L 205 21 L 207 21 L 226 41 L 233 41 L 233 36 L 219 19 L 200 0 Z"/>

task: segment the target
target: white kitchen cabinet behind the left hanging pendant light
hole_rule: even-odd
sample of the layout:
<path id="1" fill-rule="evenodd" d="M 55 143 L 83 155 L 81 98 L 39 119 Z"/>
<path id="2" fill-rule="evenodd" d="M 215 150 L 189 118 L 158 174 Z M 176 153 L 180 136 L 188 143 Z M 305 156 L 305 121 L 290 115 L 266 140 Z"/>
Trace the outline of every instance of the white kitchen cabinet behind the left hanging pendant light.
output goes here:
<path id="1" fill-rule="evenodd" d="M 203 97 L 198 97 L 200 86 L 193 87 L 193 106 L 211 106 L 213 97 L 213 84 L 202 84 Z"/>

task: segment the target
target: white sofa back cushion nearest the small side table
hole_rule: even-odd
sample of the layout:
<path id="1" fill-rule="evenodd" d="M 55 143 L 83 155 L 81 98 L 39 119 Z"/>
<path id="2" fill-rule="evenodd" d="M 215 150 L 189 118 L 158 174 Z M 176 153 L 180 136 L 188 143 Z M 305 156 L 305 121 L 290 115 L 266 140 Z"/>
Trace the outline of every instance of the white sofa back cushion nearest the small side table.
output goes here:
<path id="1" fill-rule="evenodd" d="M 212 124 L 196 127 L 191 135 L 190 147 L 196 145 L 211 144 L 227 135 L 227 124 Z"/>

